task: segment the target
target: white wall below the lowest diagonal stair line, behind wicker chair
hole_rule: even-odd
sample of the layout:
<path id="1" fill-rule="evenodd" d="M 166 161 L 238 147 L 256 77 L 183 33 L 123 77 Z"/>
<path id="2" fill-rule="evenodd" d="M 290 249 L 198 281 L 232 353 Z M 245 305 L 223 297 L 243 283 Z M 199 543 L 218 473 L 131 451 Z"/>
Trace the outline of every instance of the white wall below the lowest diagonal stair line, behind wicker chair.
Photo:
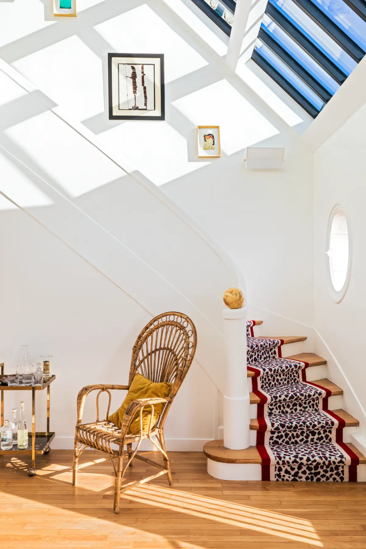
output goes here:
<path id="1" fill-rule="evenodd" d="M 71 449 L 78 391 L 93 383 L 128 382 L 132 346 L 151 315 L 2 197 L 0 234 L 1 361 L 5 373 L 14 372 L 23 343 L 29 343 L 33 364 L 40 361 L 40 354 L 53 354 L 52 372 L 57 379 L 51 386 L 51 430 L 56 433 L 52 446 Z M 36 396 L 36 429 L 42 431 L 46 430 L 46 391 L 37 391 Z M 95 396 L 87 398 L 86 421 L 95 419 Z M 111 411 L 124 396 L 114 391 Z M 19 412 L 21 399 L 31 422 L 30 394 L 24 391 L 5 392 L 5 418 L 11 417 L 14 406 Z M 216 402 L 217 390 L 194 361 L 166 421 L 167 447 L 199 450 L 212 440 Z"/>

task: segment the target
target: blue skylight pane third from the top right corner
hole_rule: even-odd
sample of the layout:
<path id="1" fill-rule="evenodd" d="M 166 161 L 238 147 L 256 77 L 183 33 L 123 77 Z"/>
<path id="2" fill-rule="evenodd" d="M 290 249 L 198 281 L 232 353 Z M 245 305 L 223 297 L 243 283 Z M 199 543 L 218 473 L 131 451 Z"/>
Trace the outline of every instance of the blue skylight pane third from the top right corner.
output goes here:
<path id="1" fill-rule="evenodd" d="M 332 95 L 337 91 L 339 84 L 329 76 L 328 72 L 325 72 L 316 61 L 305 53 L 305 51 L 286 35 L 274 21 L 269 19 L 267 15 L 264 15 L 263 17 L 262 28 Z"/>

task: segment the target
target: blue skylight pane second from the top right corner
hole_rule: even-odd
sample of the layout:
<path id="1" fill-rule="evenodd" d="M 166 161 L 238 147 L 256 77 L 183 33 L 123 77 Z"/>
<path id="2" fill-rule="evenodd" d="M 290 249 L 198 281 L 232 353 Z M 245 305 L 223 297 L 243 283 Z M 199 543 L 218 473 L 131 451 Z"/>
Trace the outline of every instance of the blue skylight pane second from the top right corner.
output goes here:
<path id="1" fill-rule="evenodd" d="M 302 9 L 298 8 L 291 0 L 269 0 L 303 35 L 315 44 L 326 57 L 349 76 L 357 66 L 350 55 L 348 55 L 334 40 L 330 38 L 320 27 L 310 19 Z"/>

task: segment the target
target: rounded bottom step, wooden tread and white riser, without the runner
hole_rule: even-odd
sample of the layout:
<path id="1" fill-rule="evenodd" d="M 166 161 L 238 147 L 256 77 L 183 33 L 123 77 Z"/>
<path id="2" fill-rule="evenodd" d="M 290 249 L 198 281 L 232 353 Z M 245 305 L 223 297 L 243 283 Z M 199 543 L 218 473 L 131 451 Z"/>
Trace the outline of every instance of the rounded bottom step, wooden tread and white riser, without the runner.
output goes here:
<path id="1" fill-rule="evenodd" d="M 359 457 L 358 482 L 366 481 L 366 457 L 353 444 L 347 444 Z M 262 458 L 256 446 L 245 450 L 229 450 L 223 440 L 211 440 L 204 445 L 207 472 L 221 480 L 262 480 Z"/>

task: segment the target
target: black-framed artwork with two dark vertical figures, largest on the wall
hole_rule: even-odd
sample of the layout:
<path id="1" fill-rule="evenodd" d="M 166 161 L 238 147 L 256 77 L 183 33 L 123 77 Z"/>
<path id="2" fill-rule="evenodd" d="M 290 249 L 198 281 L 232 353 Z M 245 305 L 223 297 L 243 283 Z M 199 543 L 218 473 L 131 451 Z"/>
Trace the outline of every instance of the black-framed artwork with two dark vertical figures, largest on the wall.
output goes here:
<path id="1" fill-rule="evenodd" d="M 165 120 L 164 54 L 108 54 L 109 120 Z"/>

